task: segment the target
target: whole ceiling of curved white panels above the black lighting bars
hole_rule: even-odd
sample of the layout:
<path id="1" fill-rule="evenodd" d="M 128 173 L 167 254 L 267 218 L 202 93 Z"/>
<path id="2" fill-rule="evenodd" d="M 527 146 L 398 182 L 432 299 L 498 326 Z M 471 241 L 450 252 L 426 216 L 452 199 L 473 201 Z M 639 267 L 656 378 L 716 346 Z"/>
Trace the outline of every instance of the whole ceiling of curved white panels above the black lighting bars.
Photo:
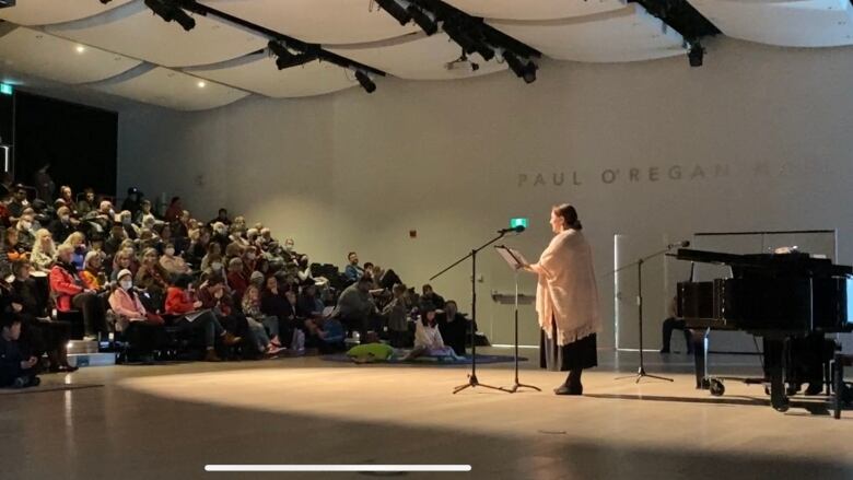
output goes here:
<path id="1" fill-rule="evenodd" d="M 784 47 L 853 45 L 849 0 L 687 1 L 734 38 Z M 445 2 L 554 60 L 646 61 L 683 56 L 689 47 L 676 28 L 646 11 L 643 5 L 653 0 Z M 358 87 L 353 70 L 330 61 L 279 70 L 267 50 L 272 33 L 405 80 L 512 74 L 500 55 L 486 61 L 471 54 L 459 61 L 460 47 L 447 34 L 428 36 L 413 22 L 400 25 L 373 0 L 199 3 L 239 22 L 194 13 L 196 26 L 185 32 L 153 15 L 143 0 L 19 0 L 0 9 L 0 80 L 83 84 L 179 110 L 215 108 L 249 95 L 293 98 Z"/>

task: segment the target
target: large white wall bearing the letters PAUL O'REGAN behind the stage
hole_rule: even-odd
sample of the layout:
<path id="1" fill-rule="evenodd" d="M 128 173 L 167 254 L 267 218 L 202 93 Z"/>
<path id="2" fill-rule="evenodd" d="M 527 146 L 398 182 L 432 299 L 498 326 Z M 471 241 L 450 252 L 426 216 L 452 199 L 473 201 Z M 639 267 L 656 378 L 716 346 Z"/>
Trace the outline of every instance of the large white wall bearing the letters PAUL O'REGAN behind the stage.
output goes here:
<path id="1" fill-rule="evenodd" d="M 546 62 L 531 85 L 510 73 L 384 79 L 373 95 L 351 89 L 201 114 L 140 110 L 121 118 L 119 189 L 180 195 L 205 218 L 225 204 L 295 237 L 315 259 L 342 264 L 355 249 L 412 284 L 511 216 L 530 218 L 530 230 L 512 243 L 536 257 L 550 236 L 549 207 L 569 201 L 596 251 L 611 318 L 605 273 L 617 233 L 630 241 L 628 258 L 697 231 L 839 229 L 840 260 L 853 262 L 852 74 L 853 49 L 722 39 L 699 69 L 686 58 Z M 680 178 L 670 178 L 679 168 Z M 606 183 L 610 171 L 618 175 Z M 564 183 L 554 186 L 560 173 Z M 650 335 L 666 289 L 683 273 L 669 260 L 664 276 L 663 261 L 648 269 Z M 507 341 L 509 312 L 488 294 L 509 291 L 512 274 L 491 251 L 480 271 L 481 328 Z M 468 276 L 464 268 L 433 283 L 465 304 Z M 533 289 L 524 279 L 522 290 Z M 523 318 L 523 340 L 535 342 L 529 307 Z M 609 325 L 600 343 L 612 339 Z"/>

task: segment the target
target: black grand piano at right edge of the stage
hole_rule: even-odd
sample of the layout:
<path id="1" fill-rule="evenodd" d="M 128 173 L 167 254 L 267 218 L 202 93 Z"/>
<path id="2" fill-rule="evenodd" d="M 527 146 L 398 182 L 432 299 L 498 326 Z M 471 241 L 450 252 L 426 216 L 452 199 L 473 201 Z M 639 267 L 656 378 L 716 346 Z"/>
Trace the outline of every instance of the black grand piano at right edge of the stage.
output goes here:
<path id="1" fill-rule="evenodd" d="M 743 330 L 763 339 L 766 377 L 756 383 L 770 385 L 771 405 L 780 411 L 788 408 L 791 343 L 853 330 L 853 267 L 796 250 L 736 255 L 682 248 L 675 256 L 732 271 L 731 278 L 678 283 L 677 315 L 705 347 L 697 350 L 698 386 L 716 395 L 722 383 L 705 370 L 710 330 Z"/>

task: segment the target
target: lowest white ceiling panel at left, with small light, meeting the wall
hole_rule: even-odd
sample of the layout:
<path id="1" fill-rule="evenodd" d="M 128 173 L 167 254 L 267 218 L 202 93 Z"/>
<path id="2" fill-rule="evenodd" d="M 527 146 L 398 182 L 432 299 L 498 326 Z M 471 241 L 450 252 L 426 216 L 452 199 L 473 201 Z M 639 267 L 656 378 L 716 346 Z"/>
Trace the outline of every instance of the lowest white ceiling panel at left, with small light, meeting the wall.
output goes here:
<path id="1" fill-rule="evenodd" d="M 203 86 L 201 86 L 203 85 Z M 176 110 L 205 110 L 236 102 L 248 93 L 186 73 L 156 67 L 120 82 L 93 85 L 94 89 L 138 102 Z"/>

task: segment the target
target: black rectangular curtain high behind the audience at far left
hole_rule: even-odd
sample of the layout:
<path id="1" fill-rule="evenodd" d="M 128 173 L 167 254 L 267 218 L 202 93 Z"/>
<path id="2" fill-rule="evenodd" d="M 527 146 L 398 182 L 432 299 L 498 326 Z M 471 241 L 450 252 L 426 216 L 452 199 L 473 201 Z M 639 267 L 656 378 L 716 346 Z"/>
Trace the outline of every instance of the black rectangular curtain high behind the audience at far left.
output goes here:
<path id="1" fill-rule="evenodd" d="M 34 174 L 46 163 L 59 186 L 74 195 L 92 187 L 116 195 L 118 114 L 15 91 L 14 178 L 34 185 Z"/>

